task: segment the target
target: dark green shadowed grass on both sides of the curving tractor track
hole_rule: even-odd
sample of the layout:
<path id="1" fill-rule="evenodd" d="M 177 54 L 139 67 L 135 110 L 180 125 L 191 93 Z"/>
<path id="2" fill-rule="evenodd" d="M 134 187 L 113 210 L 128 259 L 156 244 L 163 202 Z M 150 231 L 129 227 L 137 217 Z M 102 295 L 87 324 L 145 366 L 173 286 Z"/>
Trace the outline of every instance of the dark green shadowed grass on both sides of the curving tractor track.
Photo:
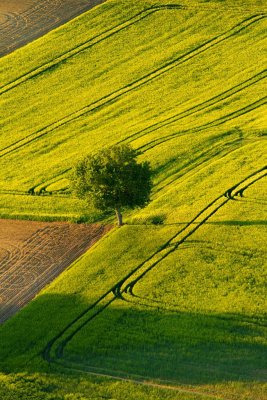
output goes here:
<path id="1" fill-rule="evenodd" d="M 42 352 L 88 306 L 79 294 L 40 295 L 0 326 L 1 370 L 62 371 L 43 360 Z M 63 365 L 176 384 L 266 379 L 266 332 L 255 317 L 174 313 L 123 300 L 95 311 L 100 311 L 97 317 L 64 348 Z"/>

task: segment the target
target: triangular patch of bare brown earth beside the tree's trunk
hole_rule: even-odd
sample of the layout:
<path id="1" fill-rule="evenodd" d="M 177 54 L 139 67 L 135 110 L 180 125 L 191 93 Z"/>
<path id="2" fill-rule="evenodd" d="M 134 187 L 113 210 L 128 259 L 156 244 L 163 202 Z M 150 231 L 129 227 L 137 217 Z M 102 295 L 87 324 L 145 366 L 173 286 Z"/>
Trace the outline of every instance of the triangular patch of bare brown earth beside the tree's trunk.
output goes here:
<path id="1" fill-rule="evenodd" d="M 15 314 L 110 226 L 0 219 L 0 323 Z"/>

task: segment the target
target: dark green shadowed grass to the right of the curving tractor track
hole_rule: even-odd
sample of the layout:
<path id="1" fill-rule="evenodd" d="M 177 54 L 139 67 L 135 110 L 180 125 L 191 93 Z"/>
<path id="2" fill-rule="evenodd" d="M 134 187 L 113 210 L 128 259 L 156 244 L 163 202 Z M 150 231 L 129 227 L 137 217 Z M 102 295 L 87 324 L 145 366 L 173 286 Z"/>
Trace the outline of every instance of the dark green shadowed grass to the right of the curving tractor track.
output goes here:
<path id="1" fill-rule="evenodd" d="M 261 381 L 261 336 L 264 328 L 249 317 L 110 307 L 68 343 L 62 361 L 174 384 Z"/>

